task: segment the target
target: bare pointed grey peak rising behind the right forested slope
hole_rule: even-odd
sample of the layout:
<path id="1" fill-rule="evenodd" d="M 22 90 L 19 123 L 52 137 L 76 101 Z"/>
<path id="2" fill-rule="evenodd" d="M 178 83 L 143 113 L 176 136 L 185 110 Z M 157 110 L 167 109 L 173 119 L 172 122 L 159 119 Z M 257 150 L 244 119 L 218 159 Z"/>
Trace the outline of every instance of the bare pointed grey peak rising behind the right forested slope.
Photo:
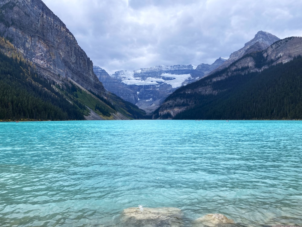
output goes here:
<path id="1" fill-rule="evenodd" d="M 255 37 L 248 41 L 246 44 L 244 44 L 244 47 L 239 49 L 238 51 L 234 51 L 230 58 L 227 59 L 223 64 L 221 64 L 219 67 L 217 67 L 215 70 L 212 71 L 212 73 L 220 71 L 223 68 L 228 67 L 230 64 L 232 64 L 234 61 L 241 58 L 243 55 L 252 53 L 255 51 L 262 51 L 266 48 L 268 48 L 271 44 L 274 42 L 280 40 L 277 36 L 272 35 L 271 33 L 268 33 L 266 31 L 258 31 Z"/>

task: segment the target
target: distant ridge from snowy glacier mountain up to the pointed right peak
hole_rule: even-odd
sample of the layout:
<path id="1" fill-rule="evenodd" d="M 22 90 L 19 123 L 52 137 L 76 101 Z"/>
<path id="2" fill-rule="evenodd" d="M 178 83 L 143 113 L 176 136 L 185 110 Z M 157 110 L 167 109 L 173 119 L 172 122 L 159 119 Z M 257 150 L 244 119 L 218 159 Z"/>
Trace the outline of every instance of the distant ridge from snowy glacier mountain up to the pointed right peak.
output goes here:
<path id="1" fill-rule="evenodd" d="M 196 68 L 192 68 L 192 65 L 159 65 L 131 72 L 122 70 L 109 75 L 94 66 L 94 71 L 104 84 L 105 89 L 136 104 L 147 113 L 151 113 L 178 87 L 220 71 L 240 59 L 244 54 L 262 51 L 278 40 L 280 39 L 271 33 L 258 31 L 253 39 L 244 44 L 243 48 L 231 53 L 229 59 L 220 57 L 213 64 L 201 63 Z M 189 66 L 191 68 L 188 68 Z M 187 67 L 187 71 L 172 72 L 173 67 Z M 182 78 L 178 75 L 182 75 Z M 178 83 L 173 84 L 173 81 Z"/>

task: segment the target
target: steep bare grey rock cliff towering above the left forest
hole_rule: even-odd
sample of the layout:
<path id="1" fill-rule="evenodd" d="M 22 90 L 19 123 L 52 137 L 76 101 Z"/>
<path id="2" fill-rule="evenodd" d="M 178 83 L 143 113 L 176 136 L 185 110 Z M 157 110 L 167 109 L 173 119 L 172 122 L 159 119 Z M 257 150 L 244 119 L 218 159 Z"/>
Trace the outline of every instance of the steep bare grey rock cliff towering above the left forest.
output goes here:
<path id="1" fill-rule="evenodd" d="M 115 96 L 104 89 L 93 72 L 92 61 L 75 37 L 41 0 L 0 1 L 0 36 L 10 42 L 16 54 L 31 62 L 40 75 L 52 81 L 53 86 L 63 89 L 72 83 L 90 96 L 95 94 L 114 102 Z M 103 100 L 100 102 L 107 105 Z M 117 109 L 118 103 L 120 100 L 115 102 Z M 111 114 L 112 119 L 129 117 L 122 115 L 119 110 Z"/>

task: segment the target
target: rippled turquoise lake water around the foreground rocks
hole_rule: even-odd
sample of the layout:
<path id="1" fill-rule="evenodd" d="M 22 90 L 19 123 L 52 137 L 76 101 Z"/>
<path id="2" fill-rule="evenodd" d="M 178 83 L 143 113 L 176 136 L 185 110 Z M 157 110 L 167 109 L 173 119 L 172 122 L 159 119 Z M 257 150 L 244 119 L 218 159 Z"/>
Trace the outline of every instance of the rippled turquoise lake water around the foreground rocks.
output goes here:
<path id="1" fill-rule="evenodd" d="M 302 225 L 302 121 L 0 123 L 1 226 L 124 226 L 177 207 L 184 226 Z"/>

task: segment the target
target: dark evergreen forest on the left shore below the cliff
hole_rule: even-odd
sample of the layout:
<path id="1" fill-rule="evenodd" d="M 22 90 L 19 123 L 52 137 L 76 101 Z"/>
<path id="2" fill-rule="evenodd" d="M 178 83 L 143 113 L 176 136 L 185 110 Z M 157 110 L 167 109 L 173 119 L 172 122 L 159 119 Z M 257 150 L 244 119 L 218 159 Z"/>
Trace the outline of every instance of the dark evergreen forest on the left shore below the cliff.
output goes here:
<path id="1" fill-rule="evenodd" d="M 30 64 L 0 53 L 0 120 L 84 120 L 84 115 Z"/>

